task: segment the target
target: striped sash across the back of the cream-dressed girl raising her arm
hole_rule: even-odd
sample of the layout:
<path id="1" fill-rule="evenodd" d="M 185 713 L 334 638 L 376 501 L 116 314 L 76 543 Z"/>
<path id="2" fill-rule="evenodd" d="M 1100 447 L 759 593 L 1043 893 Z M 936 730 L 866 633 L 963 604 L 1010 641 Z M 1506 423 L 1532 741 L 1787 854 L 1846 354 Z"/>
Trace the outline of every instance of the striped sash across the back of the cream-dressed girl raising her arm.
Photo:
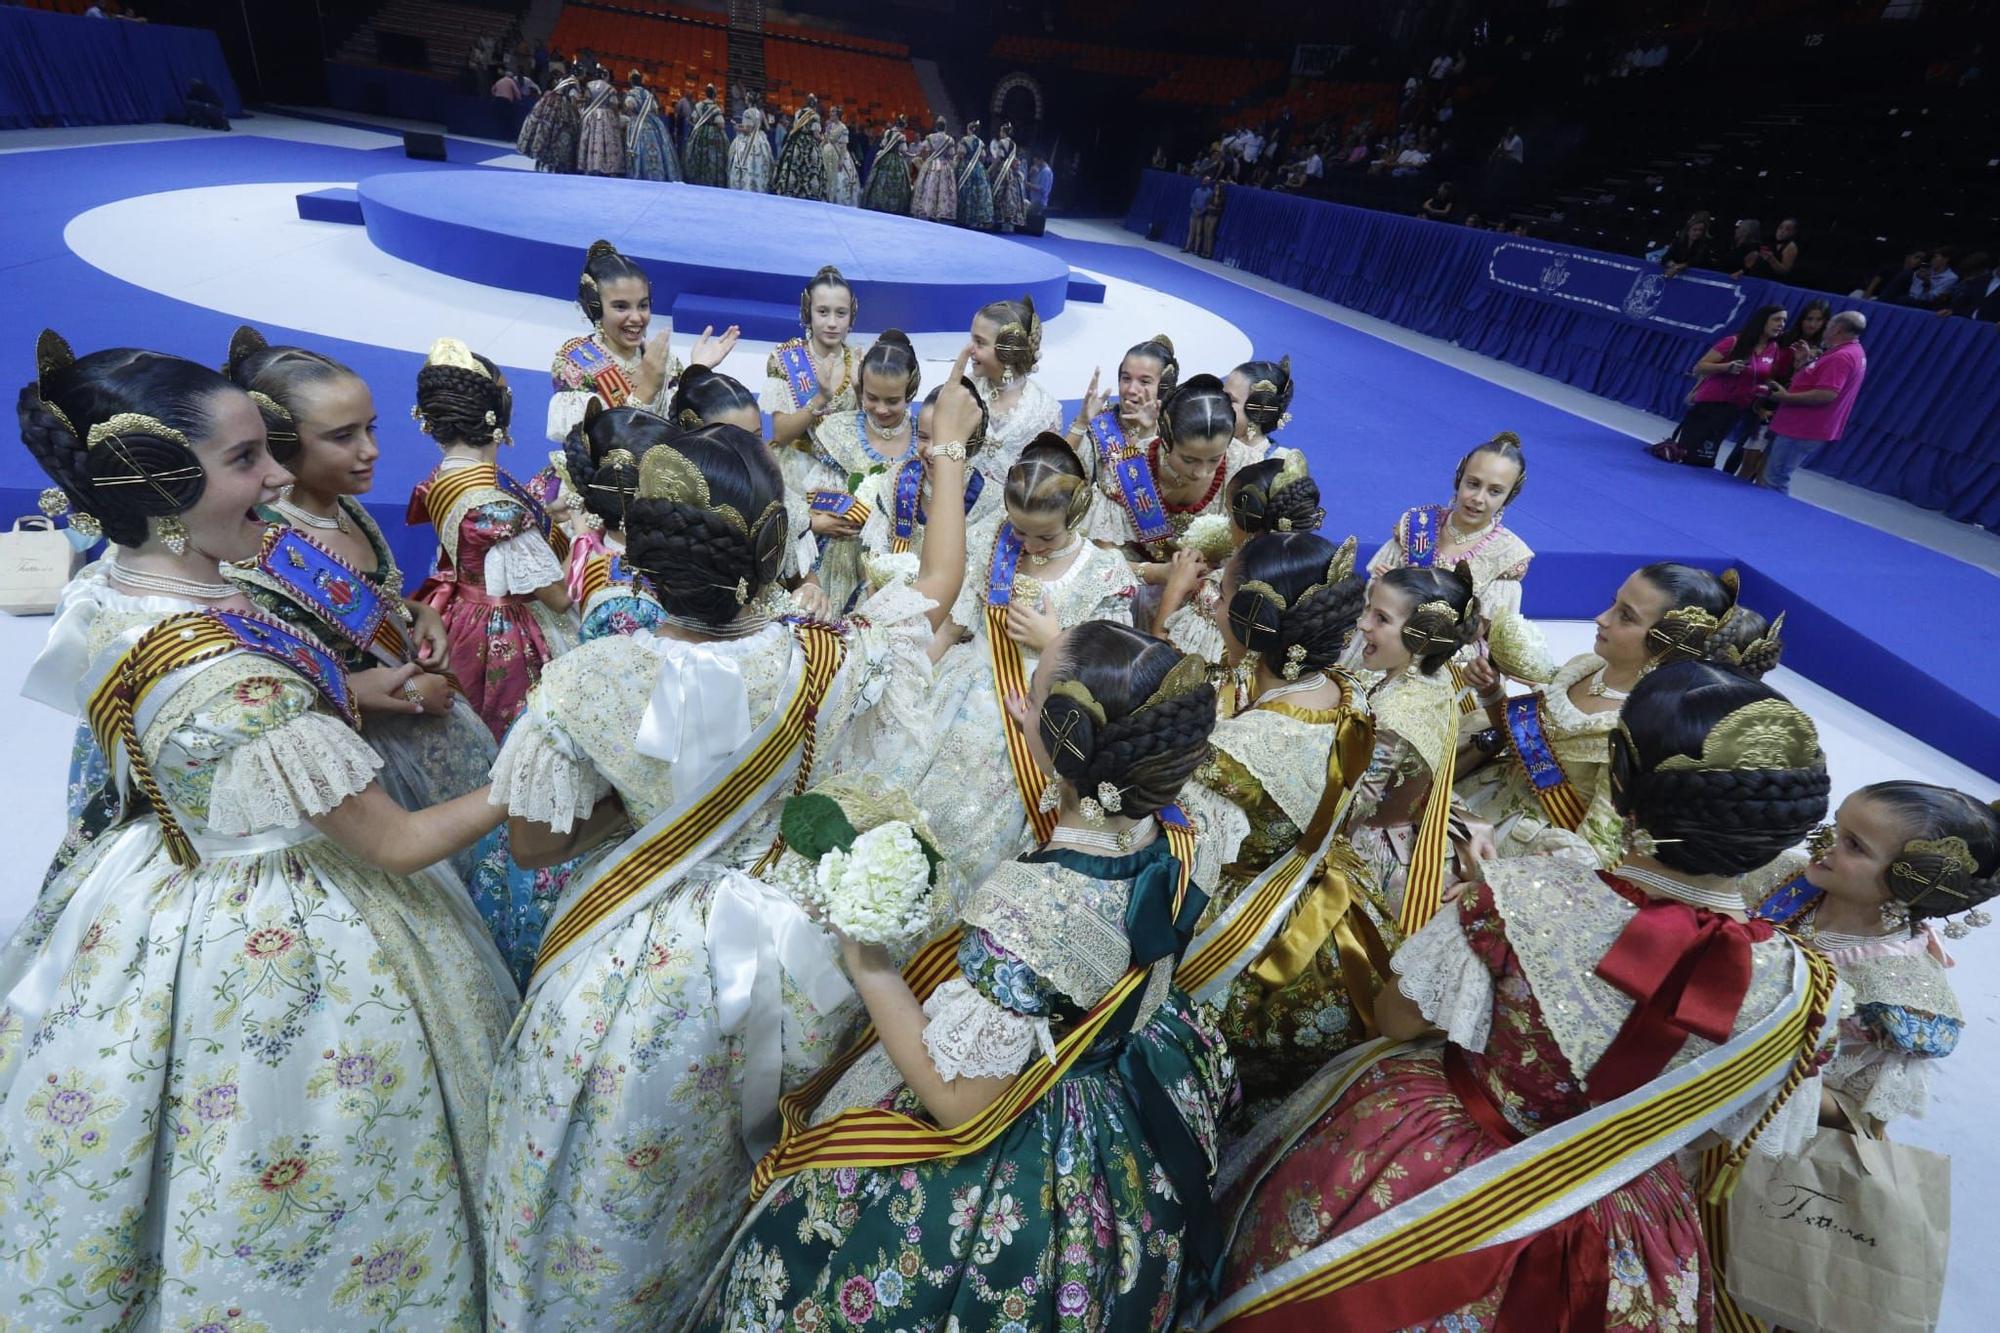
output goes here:
<path id="1" fill-rule="evenodd" d="M 618 865 L 596 877 L 566 911 L 548 923 L 542 949 L 534 959 L 536 973 L 554 967 L 564 949 L 610 919 L 622 903 L 658 875 L 674 869 L 690 849 L 700 847 L 778 773 L 792 751 L 806 747 L 810 757 L 812 725 L 834 673 L 840 671 L 846 642 L 838 630 L 826 624 L 806 622 L 796 632 L 806 652 L 806 669 L 778 725 L 680 819 L 620 857 Z"/>

